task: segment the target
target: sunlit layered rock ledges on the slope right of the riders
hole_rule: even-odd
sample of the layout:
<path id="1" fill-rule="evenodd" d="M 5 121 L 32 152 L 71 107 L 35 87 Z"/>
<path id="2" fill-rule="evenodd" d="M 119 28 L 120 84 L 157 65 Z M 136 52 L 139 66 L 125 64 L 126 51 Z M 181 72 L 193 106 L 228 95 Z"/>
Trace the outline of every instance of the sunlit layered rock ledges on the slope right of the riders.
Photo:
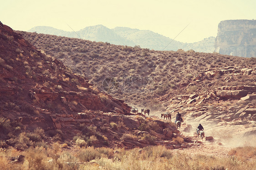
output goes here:
<path id="1" fill-rule="evenodd" d="M 244 85 L 241 82 L 241 85 L 216 86 L 218 81 L 236 82 L 241 79 L 251 80 L 252 84 Z M 207 80 L 210 83 L 207 84 Z M 170 112 L 179 111 L 184 115 L 188 124 L 186 132 L 194 132 L 192 126 L 196 127 L 201 123 L 205 127 L 205 133 L 213 136 L 215 140 L 219 139 L 218 142 L 238 146 L 247 141 L 250 145 L 256 145 L 255 80 L 256 65 L 251 68 L 225 67 L 205 70 L 195 75 L 195 83 L 190 83 L 186 88 L 200 83 L 205 85 L 205 89 L 214 87 L 211 90 L 174 97 L 165 95 L 159 100 L 167 101 L 167 110 Z M 239 142 L 235 144 L 234 140 L 238 139 Z"/>

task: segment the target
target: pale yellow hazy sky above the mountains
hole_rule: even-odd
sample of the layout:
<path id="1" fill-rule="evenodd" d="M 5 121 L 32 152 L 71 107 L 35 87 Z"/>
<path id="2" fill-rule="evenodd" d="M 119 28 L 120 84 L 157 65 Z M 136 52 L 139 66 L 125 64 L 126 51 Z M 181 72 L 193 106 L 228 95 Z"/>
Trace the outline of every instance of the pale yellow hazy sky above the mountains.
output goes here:
<path id="1" fill-rule="evenodd" d="M 256 19 L 256 0 L 2 0 L 0 21 L 14 30 L 72 31 L 102 24 L 152 30 L 196 42 L 217 35 L 221 20 Z M 70 25 L 72 29 L 68 26 Z"/>

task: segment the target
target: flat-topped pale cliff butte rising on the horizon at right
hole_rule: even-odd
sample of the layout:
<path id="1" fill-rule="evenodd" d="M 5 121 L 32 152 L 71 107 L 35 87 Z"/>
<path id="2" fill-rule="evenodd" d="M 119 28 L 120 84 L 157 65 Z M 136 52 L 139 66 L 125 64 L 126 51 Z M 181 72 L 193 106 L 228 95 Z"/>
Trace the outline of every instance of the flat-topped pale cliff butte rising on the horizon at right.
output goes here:
<path id="1" fill-rule="evenodd" d="M 256 57 L 256 20 L 224 20 L 218 25 L 215 52 Z"/>

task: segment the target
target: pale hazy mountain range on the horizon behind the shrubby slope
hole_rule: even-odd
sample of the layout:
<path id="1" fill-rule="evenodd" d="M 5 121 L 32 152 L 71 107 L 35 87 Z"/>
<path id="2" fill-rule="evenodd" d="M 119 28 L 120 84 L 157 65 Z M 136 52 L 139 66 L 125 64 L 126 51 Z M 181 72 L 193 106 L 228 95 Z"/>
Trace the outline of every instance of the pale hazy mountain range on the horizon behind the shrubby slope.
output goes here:
<path id="1" fill-rule="evenodd" d="M 92 40 L 97 42 L 109 42 L 115 45 L 139 45 L 142 48 L 148 48 L 150 50 L 154 49 L 176 51 L 178 49 L 183 49 L 187 51 L 192 49 L 198 52 L 211 53 L 215 49 L 215 37 L 205 38 L 204 40 L 195 43 L 183 43 L 172 40 L 164 35 L 160 35 L 150 30 L 138 30 L 128 27 L 115 27 L 113 29 L 109 29 L 104 25 L 95 25 L 88 26 L 82 30 L 74 32 L 58 30 L 49 26 L 36 26 L 28 30 L 28 32 L 82 38 L 85 40 Z"/>

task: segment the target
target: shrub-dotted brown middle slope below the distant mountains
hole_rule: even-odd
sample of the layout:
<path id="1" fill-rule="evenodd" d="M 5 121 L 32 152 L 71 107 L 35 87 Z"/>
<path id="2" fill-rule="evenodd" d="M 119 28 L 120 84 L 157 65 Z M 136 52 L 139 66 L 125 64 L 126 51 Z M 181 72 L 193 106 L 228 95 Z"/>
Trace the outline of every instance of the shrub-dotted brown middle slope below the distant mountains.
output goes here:
<path id="1" fill-rule="evenodd" d="M 256 64 L 253 58 L 199 53 L 193 50 L 156 51 L 55 35 L 20 33 L 46 54 L 63 61 L 73 72 L 89 77 L 90 82 L 96 84 L 100 90 L 104 90 L 104 80 L 113 77 L 118 86 L 116 90 L 108 92 L 133 105 L 150 105 L 152 109 L 161 107 L 156 99 L 165 94 L 174 96 L 211 90 L 213 86 L 208 87 L 206 84 L 186 88 L 189 83 L 195 82 L 195 75 L 204 70 L 228 66 L 246 68 Z M 153 81 L 145 83 L 145 79 Z M 220 81 L 216 77 L 215 81 L 214 87 L 254 85 L 250 79 Z M 205 81 L 210 82 L 211 80 Z"/>

